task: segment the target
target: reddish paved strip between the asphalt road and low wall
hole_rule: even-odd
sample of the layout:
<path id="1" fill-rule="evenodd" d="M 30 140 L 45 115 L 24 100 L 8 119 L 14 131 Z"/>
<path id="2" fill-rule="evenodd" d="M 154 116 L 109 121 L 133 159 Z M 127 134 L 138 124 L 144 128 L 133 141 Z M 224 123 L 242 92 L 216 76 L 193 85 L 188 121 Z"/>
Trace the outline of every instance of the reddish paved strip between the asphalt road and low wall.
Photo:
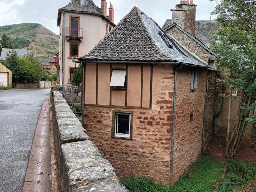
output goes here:
<path id="1" fill-rule="evenodd" d="M 23 192 L 51 192 L 49 101 L 42 105 L 31 148 Z"/>

